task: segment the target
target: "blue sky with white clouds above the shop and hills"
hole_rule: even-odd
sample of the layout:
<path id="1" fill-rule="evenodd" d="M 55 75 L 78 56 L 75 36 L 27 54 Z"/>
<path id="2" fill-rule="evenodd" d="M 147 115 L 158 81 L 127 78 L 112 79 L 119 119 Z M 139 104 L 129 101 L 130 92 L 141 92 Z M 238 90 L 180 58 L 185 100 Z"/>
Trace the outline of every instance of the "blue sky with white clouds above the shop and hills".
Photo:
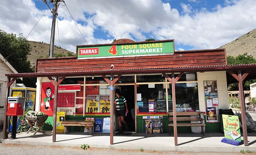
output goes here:
<path id="1" fill-rule="evenodd" d="M 122 38 L 213 49 L 256 29 L 256 0 L 66 0 L 57 13 L 55 46 L 74 53 Z M 42 0 L 1 0 L 0 29 L 50 44 L 51 10 Z"/>

